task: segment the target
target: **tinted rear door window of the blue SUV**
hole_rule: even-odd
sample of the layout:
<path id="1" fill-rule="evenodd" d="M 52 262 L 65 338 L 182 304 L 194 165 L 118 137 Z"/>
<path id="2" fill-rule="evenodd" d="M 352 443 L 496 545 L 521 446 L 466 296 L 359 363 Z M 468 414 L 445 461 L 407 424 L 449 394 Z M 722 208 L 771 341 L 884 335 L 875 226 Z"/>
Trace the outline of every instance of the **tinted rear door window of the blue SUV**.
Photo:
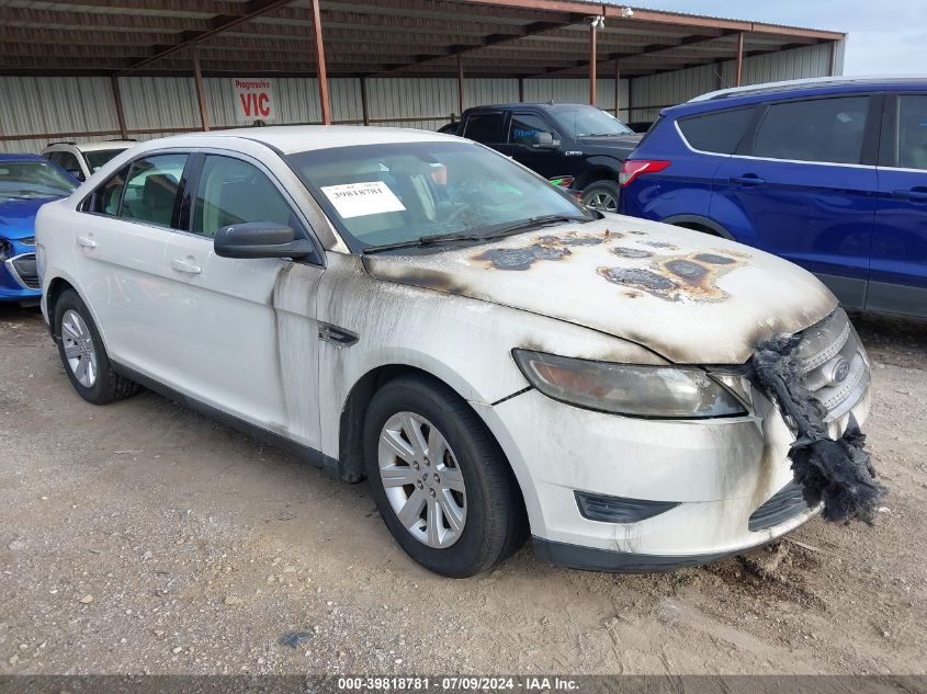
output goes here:
<path id="1" fill-rule="evenodd" d="M 769 159 L 860 163 L 869 96 L 772 104 L 757 129 L 753 155 Z"/>

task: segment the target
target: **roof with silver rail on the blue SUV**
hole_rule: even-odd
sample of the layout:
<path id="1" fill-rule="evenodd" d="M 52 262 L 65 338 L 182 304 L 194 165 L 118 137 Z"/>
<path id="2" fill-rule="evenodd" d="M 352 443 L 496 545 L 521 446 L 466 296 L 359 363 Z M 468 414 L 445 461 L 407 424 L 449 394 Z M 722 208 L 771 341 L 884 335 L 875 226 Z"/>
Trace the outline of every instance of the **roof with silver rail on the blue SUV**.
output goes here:
<path id="1" fill-rule="evenodd" d="M 827 96 L 871 91 L 902 91 L 906 89 L 927 90 L 927 77 L 824 77 L 784 82 L 766 82 L 701 94 L 678 106 L 665 109 L 660 113 L 667 117 L 679 117 L 793 96 Z"/>

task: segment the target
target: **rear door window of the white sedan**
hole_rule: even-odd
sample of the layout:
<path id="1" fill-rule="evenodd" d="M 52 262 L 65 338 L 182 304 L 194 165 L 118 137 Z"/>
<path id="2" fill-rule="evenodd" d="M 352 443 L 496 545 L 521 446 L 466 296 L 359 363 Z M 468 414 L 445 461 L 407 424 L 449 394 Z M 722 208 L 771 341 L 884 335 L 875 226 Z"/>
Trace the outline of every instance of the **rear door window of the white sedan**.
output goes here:
<path id="1" fill-rule="evenodd" d="M 156 155 L 132 163 L 125 184 L 123 219 L 171 227 L 188 155 Z"/>

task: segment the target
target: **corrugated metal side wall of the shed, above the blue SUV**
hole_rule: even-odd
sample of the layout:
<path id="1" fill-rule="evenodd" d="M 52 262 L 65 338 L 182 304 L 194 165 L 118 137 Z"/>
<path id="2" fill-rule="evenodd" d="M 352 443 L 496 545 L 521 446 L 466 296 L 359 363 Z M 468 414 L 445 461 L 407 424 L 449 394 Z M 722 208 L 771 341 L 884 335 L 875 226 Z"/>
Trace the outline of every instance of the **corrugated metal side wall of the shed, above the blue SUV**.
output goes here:
<path id="1" fill-rule="evenodd" d="M 844 42 L 837 48 L 836 73 L 843 73 Z M 674 72 L 636 77 L 631 86 L 632 121 L 653 121 L 660 109 L 688 101 L 716 89 L 734 84 L 736 65 L 725 60 Z M 779 53 L 744 58 L 743 84 L 758 84 L 781 80 L 830 75 L 830 44 L 802 46 Z"/>

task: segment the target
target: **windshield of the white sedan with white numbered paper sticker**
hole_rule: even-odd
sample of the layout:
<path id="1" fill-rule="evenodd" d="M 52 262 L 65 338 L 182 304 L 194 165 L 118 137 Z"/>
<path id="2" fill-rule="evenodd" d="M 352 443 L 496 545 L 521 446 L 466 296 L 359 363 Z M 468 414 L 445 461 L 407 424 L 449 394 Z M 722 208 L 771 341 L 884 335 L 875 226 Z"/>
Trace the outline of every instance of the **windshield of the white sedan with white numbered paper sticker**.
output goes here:
<path id="1" fill-rule="evenodd" d="M 545 215 L 589 217 L 567 194 L 474 143 L 337 147 L 286 160 L 355 251 L 479 236 Z"/>

